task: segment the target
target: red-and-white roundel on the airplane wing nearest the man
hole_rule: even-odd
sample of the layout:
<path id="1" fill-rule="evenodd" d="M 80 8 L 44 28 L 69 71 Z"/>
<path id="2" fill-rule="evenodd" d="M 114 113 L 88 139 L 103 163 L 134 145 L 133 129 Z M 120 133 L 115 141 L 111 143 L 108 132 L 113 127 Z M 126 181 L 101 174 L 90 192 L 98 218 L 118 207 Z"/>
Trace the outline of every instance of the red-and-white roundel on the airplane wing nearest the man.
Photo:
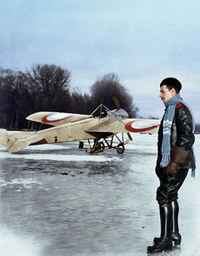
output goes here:
<path id="1" fill-rule="evenodd" d="M 131 122 L 127 122 L 125 124 L 125 129 L 129 132 L 133 132 L 133 133 L 143 133 L 143 132 L 147 132 L 150 130 L 153 130 L 154 128 L 158 128 L 159 124 L 154 124 L 152 126 L 149 126 L 149 124 L 147 122 L 145 122 L 145 120 L 134 120 Z"/>

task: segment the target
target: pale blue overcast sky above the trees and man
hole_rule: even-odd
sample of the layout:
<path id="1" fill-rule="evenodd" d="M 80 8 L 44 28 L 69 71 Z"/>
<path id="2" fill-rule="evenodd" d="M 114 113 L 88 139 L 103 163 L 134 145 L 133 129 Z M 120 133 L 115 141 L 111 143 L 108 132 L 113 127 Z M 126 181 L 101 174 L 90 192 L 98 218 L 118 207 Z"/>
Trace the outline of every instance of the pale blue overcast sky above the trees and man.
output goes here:
<path id="1" fill-rule="evenodd" d="M 142 117 L 162 117 L 159 83 L 178 78 L 200 122 L 199 0 L 0 0 L 0 66 L 55 64 L 71 88 L 114 72 Z"/>

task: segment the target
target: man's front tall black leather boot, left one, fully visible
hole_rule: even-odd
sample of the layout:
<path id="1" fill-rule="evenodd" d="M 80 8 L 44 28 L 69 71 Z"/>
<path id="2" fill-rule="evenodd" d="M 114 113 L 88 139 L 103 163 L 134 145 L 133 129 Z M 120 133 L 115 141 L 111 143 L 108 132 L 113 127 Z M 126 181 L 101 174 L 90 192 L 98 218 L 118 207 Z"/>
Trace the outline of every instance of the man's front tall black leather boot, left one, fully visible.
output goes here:
<path id="1" fill-rule="evenodd" d="M 160 214 L 160 239 L 154 242 L 153 246 L 147 247 L 148 253 L 162 253 L 172 248 L 171 240 L 171 223 L 172 223 L 172 206 L 171 204 L 159 205 Z"/>

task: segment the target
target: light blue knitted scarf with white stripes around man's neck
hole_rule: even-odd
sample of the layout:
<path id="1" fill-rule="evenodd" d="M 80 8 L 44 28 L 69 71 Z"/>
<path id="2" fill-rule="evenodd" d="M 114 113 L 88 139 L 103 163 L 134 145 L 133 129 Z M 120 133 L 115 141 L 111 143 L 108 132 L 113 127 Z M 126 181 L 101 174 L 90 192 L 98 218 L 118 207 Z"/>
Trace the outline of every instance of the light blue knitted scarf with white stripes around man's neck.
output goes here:
<path id="1" fill-rule="evenodd" d="M 171 126 L 173 119 L 175 117 L 175 106 L 178 102 L 183 103 L 186 105 L 186 103 L 182 100 L 180 94 L 175 94 L 170 100 L 168 100 L 164 105 L 166 106 L 166 111 L 164 113 L 164 122 L 163 122 L 163 142 L 162 142 L 162 161 L 160 162 L 160 167 L 164 168 L 168 165 L 170 161 L 170 151 L 171 151 L 171 146 L 170 146 L 170 134 L 171 134 Z M 192 132 L 194 133 L 195 130 L 195 122 L 194 122 L 194 117 L 192 114 L 192 111 L 190 108 L 186 105 L 186 107 L 189 109 L 192 115 L 192 121 L 193 121 L 193 130 Z M 192 154 L 194 157 L 194 162 L 195 160 L 195 154 L 193 151 L 192 147 Z M 195 176 L 195 167 L 192 168 L 192 176 Z"/>

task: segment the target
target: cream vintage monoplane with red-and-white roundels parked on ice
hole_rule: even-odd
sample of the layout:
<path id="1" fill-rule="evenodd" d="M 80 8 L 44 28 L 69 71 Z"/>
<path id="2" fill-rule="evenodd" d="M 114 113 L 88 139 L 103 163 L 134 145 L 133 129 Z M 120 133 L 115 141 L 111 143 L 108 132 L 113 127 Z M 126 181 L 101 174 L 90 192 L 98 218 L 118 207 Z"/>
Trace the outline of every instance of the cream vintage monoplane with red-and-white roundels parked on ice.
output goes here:
<path id="1" fill-rule="evenodd" d="M 23 150 L 28 145 L 88 140 L 90 153 L 114 148 L 122 154 L 125 151 L 125 144 L 132 140 L 131 133 L 157 133 L 160 123 L 158 119 L 128 117 L 125 110 L 117 108 L 110 111 L 103 104 L 99 105 L 91 115 L 40 111 L 26 119 L 51 125 L 52 128 L 36 132 L 0 129 L 0 145 L 6 146 L 8 151 L 13 153 Z M 125 140 L 124 133 L 129 139 Z M 118 134 L 122 134 L 121 139 Z M 114 138 L 119 141 L 118 145 L 114 145 Z M 91 139 L 93 145 L 90 143 Z"/>

